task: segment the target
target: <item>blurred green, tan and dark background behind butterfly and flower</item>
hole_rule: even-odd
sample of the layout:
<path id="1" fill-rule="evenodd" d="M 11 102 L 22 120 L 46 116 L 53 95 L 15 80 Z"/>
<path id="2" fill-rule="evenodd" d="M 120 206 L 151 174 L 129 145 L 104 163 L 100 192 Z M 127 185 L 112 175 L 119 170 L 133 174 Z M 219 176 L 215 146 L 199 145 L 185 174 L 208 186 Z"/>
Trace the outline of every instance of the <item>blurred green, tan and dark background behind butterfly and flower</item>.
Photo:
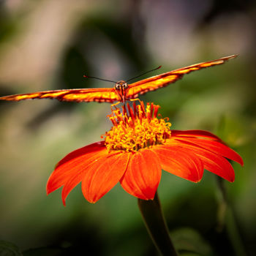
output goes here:
<path id="1" fill-rule="evenodd" d="M 239 54 L 140 99 L 161 105 L 173 129 L 207 129 L 244 159 L 243 168 L 233 164 L 236 181 L 225 181 L 227 225 L 218 221 L 216 176 L 206 171 L 192 184 L 162 173 L 159 197 L 176 247 L 256 255 L 255 15 L 249 0 L 0 1 L 0 94 L 112 87 L 83 75 L 126 80 Z M 136 198 L 119 184 L 95 204 L 80 185 L 67 207 L 61 189 L 45 193 L 54 165 L 110 128 L 108 103 L 0 103 L 0 240 L 24 255 L 158 255 Z"/>

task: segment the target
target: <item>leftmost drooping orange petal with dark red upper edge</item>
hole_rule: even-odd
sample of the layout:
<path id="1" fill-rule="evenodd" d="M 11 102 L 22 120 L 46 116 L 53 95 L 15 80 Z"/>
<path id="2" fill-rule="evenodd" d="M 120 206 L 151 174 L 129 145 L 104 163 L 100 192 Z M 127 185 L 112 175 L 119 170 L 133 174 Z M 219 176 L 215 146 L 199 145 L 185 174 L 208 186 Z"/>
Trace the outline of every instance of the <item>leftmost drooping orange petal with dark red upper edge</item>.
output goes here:
<path id="1" fill-rule="evenodd" d="M 49 194 L 59 189 L 59 187 L 67 184 L 68 181 L 69 184 L 72 181 L 72 188 L 75 187 L 81 181 L 81 176 L 83 176 L 87 165 L 106 153 L 104 142 L 99 142 L 78 148 L 67 154 L 67 156 L 61 159 L 58 165 L 56 165 L 56 169 L 50 175 L 46 186 L 47 193 Z"/>

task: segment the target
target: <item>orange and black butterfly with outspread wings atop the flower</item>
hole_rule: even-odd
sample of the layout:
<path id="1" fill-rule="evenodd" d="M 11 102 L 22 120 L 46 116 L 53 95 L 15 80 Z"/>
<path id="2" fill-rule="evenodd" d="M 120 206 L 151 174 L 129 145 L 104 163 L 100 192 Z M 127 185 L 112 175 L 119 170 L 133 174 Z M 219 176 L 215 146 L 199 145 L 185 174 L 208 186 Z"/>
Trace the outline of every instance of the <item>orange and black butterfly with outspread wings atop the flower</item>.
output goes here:
<path id="1" fill-rule="evenodd" d="M 148 91 L 155 91 L 162 87 L 175 83 L 185 74 L 192 71 L 213 67 L 225 63 L 229 59 L 236 58 L 238 55 L 231 55 L 213 61 L 201 62 L 181 69 L 175 69 L 161 75 L 155 75 L 135 83 L 128 84 L 124 80 L 118 81 L 113 88 L 95 88 L 95 89 L 63 89 L 53 91 L 38 91 L 30 94 L 14 94 L 0 97 L 2 100 L 20 101 L 23 99 L 59 99 L 66 102 L 125 102 L 136 99 L 139 94 L 146 94 Z M 161 67 L 161 66 L 160 66 Z M 159 67 L 157 67 L 159 69 Z M 153 69 L 155 70 L 155 69 Z M 84 75 L 84 77 L 88 77 Z M 89 78 L 89 77 L 88 77 Z M 137 78 L 137 77 L 135 77 Z M 132 78 L 133 79 L 133 78 Z M 116 105 L 116 104 L 115 104 Z"/>

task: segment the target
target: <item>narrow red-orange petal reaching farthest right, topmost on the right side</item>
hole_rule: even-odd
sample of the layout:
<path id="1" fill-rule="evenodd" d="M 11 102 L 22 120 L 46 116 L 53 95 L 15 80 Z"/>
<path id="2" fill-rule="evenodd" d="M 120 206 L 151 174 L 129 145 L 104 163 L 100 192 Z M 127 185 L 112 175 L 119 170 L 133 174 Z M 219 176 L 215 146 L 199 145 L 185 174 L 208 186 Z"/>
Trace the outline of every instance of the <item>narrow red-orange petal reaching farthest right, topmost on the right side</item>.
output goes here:
<path id="1" fill-rule="evenodd" d="M 205 148 L 208 151 L 221 155 L 222 157 L 236 161 L 240 165 L 244 165 L 243 159 L 236 153 L 236 151 L 233 151 L 233 149 L 225 146 L 219 141 L 204 140 L 200 138 L 178 138 L 178 140 L 183 141 L 184 143 L 189 143 L 192 146 Z"/>

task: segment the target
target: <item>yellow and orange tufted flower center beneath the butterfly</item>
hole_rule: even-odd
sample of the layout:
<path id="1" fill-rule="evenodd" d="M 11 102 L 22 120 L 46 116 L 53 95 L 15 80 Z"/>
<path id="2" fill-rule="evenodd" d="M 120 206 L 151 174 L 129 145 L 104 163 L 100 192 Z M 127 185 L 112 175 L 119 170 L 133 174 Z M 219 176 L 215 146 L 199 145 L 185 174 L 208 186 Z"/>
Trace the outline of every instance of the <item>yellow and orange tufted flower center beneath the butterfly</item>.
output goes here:
<path id="1" fill-rule="evenodd" d="M 133 110 L 127 103 L 123 111 L 117 108 L 108 116 L 113 127 L 105 134 L 105 146 L 108 150 L 138 151 L 157 144 L 165 143 L 170 138 L 168 118 L 157 118 L 159 106 L 143 102 L 133 104 Z M 128 111 L 127 111 L 128 110 Z"/>

